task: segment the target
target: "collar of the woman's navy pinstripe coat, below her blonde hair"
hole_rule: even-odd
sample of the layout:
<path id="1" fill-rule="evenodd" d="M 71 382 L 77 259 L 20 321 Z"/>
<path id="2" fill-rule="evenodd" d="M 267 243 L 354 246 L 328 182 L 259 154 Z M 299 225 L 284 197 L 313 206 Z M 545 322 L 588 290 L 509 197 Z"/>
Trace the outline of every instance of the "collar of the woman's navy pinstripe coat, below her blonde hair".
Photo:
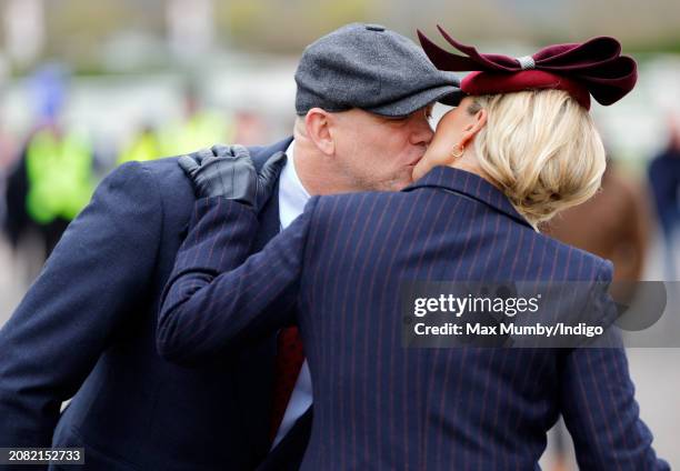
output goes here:
<path id="1" fill-rule="evenodd" d="M 418 188 L 439 188 L 444 191 L 462 193 L 532 228 L 502 191 L 474 173 L 451 167 L 434 167 L 423 178 L 407 187 L 403 191 L 412 191 Z"/>

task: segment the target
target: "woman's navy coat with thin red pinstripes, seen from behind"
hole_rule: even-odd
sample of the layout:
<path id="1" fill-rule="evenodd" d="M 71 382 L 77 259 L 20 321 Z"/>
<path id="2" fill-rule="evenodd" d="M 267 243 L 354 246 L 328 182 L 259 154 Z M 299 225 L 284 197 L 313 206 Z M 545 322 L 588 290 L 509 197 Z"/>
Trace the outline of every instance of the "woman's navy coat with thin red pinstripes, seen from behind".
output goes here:
<path id="1" fill-rule="evenodd" d="M 243 264 L 250 210 L 206 200 L 194 218 L 159 350 L 238 349 L 296 322 L 297 303 L 314 388 L 303 469 L 538 469 L 560 412 L 582 469 L 668 469 L 622 349 L 401 347 L 404 280 L 611 280 L 611 263 L 534 232 L 477 176 L 437 168 L 400 193 L 313 198 Z"/>

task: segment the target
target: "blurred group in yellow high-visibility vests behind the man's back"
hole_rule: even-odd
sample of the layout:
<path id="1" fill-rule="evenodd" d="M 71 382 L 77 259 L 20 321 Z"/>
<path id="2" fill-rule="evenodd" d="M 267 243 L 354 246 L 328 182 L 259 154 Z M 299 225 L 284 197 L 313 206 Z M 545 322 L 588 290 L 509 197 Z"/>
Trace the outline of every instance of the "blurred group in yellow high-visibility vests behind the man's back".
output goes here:
<path id="1" fill-rule="evenodd" d="M 158 122 L 151 117 L 116 149 L 101 152 L 97 139 L 66 124 L 68 77 L 46 67 L 30 80 L 34 119 L 24 136 L 8 132 L 0 120 L 0 221 L 14 254 L 32 268 L 26 285 L 37 275 L 71 220 L 89 202 L 98 181 L 128 161 L 178 156 L 213 143 L 261 144 L 269 139 L 268 121 L 251 110 L 224 110 L 203 103 L 201 91 L 187 83 L 178 100 L 180 119 Z M 23 260 L 26 262 L 26 260 Z"/>

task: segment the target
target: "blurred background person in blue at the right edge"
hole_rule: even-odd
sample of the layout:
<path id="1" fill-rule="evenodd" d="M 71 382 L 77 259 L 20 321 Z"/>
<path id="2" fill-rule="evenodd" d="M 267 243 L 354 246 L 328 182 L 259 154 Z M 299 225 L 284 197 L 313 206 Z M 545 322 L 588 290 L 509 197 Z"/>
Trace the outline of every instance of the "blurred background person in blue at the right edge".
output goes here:
<path id="1" fill-rule="evenodd" d="M 668 123 L 669 139 L 666 149 L 649 166 L 649 182 L 666 244 L 666 280 L 678 280 L 674 239 L 680 222 L 680 126 L 671 117 Z"/>

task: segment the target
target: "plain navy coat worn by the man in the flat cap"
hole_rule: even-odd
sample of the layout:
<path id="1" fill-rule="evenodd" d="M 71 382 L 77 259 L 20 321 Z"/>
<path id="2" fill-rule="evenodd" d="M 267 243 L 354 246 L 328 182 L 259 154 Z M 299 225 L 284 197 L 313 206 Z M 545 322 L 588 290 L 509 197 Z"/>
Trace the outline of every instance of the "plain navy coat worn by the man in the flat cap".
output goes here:
<path id="1" fill-rule="evenodd" d="M 290 141 L 251 148 L 256 164 Z M 93 470 L 251 470 L 264 458 L 273 335 L 192 368 L 156 350 L 194 202 L 174 158 L 102 181 L 0 331 L 0 447 L 84 447 Z M 254 245 L 279 226 L 272 198 Z"/>

